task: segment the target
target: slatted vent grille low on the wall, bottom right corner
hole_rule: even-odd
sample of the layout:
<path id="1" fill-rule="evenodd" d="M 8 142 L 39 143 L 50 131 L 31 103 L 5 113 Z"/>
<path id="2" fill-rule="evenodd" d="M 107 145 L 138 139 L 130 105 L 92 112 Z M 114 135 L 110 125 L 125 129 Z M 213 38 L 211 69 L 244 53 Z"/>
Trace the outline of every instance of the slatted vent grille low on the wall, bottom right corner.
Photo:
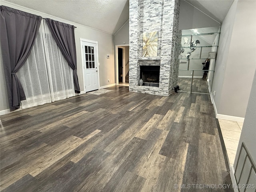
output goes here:
<path id="1" fill-rule="evenodd" d="M 256 168 L 244 142 L 240 149 L 235 169 L 239 192 L 256 192 Z"/>

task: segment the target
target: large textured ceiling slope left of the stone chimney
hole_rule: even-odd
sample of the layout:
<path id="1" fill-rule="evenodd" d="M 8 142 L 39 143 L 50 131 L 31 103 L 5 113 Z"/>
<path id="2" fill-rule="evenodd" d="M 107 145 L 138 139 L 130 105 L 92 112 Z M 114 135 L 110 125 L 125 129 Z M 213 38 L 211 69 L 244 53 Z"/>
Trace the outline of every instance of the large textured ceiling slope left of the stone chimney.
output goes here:
<path id="1" fill-rule="evenodd" d="M 110 34 L 115 34 L 129 19 L 128 0 L 6 1 Z"/>

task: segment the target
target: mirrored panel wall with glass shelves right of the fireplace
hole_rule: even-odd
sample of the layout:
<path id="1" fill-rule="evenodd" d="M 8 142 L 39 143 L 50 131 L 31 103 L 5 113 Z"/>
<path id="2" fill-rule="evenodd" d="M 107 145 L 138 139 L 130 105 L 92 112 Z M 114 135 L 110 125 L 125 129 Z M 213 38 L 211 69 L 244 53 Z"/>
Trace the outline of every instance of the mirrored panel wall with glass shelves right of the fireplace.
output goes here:
<path id="1" fill-rule="evenodd" d="M 212 86 L 220 27 L 181 30 L 179 88 L 209 94 Z"/>

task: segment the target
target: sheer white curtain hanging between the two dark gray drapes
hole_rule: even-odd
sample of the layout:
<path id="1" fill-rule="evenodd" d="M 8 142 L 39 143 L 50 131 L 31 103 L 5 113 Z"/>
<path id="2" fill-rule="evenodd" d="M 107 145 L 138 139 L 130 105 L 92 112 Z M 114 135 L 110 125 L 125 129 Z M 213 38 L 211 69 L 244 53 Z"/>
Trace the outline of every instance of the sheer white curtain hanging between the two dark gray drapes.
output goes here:
<path id="1" fill-rule="evenodd" d="M 26 100 L 22 108 L 75 96 L 72 69 L 42 20 L 28 60 L 17 73 Z"/>

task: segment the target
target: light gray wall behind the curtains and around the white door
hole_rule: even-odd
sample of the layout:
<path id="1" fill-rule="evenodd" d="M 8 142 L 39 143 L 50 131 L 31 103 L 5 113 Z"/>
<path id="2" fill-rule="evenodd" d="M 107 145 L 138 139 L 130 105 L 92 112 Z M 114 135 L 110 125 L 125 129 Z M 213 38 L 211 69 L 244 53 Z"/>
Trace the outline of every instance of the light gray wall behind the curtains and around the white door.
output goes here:
<path id="1" fill-rule="evenodd" d="M 99 66 L 99 75 L 100 75 L 100 86 L 107 86 L 113 84 L 115 82 L 114 77 L 114 36 L 112 34 L 108 34 L 106 32 L 101 32 L 99 30 L 95 30 L 80 24 L 76 24 L 67 20 L 62 20 L 60 18 L 56 18 L 54 16 L 50 16 L 48 14 L 44 14 L 42 12 L 38 12 L 35 10 L 31 10 L 28 8 L 24 8 L 22 6 L 18 6 L 9 2 L 2 2 L 1 5 L 8 6 L 14 9 L 18 9 L 24 12 L 28 12 L 31 14 L 36 14 L 42 16 L 43 18 L 51 18 L 53 20 L 57 20 L 60 22 L 64 22 L 67 24 L 71 24 L 76 26 L 75 28 L 75 42 L 76 42 L 76 58 L 77 58 L 77 73 L 78 73 L 78 81 L 80 85 L 80 90 L 84 91 L 83 85 L 83 76 L 82 76 L 82 58 L 81 58 L 81 49 L 80 49 L 80 38 L 98 41 L 98 57 L 100 62 Z M 106 58 L 106 55 L 109 54 L 110 58 Z M 1 62 L 2 69 L 2 62 Z M 108 82 L 108 79 L 110 82 Z M 1 95 L 0 95 L 0 111 L 7 110 L 8 104 L 6 104 L 6 93 L 4 88 L 4 81 L 2 81 L 2 71 L 1 71 Z"/>

